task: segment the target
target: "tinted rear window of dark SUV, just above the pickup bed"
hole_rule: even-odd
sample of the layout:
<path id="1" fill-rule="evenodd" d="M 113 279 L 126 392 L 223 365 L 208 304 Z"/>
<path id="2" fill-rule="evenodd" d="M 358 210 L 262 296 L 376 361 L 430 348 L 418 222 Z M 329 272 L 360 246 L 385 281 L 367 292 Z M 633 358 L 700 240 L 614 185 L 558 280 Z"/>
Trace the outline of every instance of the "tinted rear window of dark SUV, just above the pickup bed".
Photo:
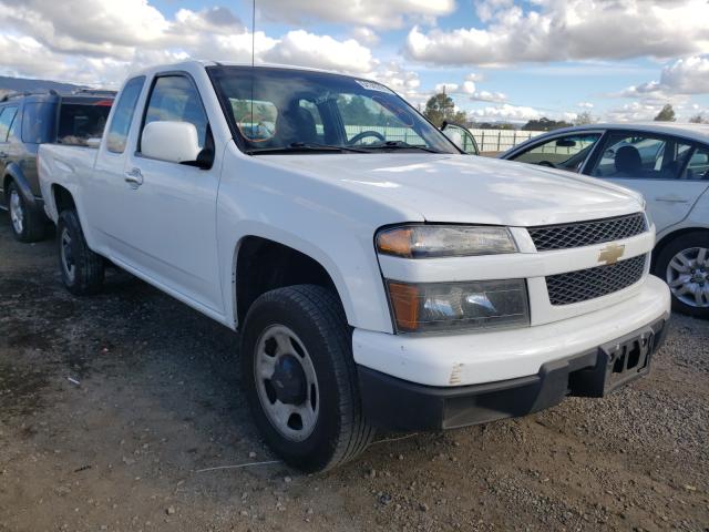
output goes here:
<path id="1" fill-rule="evenodd" d="M 101 137 L 110 112 L 111 100 L 95 103 L 62 102 L 56 142 L 85 146 L 89 139 Z"/>

